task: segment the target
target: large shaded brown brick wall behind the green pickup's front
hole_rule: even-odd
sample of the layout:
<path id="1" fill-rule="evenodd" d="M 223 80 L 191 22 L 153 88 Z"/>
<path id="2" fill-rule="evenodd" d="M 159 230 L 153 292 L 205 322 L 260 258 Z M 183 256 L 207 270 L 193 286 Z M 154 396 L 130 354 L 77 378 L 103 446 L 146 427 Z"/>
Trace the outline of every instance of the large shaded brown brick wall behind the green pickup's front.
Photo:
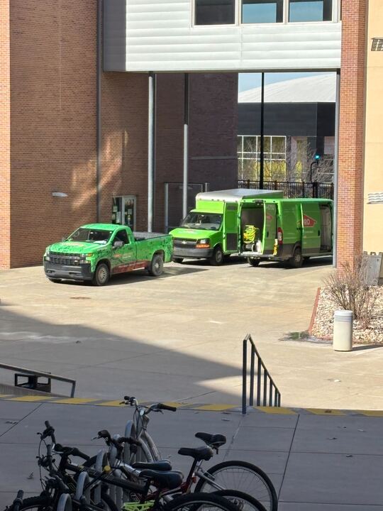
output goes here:
<path id="1" fill-rule="evenodd" d="M 12 0 L 13 267 L 95 218 L 95 55 L 96 0 Z"/>

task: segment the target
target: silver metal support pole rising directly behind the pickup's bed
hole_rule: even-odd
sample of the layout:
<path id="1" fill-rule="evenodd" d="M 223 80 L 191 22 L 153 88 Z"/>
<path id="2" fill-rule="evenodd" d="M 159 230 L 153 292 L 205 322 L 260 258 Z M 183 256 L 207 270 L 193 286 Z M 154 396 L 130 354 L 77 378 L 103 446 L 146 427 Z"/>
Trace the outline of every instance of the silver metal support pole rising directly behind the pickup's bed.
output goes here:
<path id="1" fill-rule="evenodd" d="M 148 232 L 153 229 L 155 167 L 155 75 L 149 73 L 148 99 Z"/>

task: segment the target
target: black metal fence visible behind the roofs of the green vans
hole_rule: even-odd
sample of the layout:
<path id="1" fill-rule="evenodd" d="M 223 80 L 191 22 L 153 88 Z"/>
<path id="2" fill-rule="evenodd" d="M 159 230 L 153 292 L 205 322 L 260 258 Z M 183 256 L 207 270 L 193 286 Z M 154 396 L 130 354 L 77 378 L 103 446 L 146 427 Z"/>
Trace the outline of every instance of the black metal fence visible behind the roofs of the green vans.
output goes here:
<path id="1" fill-rule="evenodd" d="M 238 188 L 259 189 L 259 181 L 239 180 Z M 301 199 L 313 197 L 316 199 L 333 199 L 334 184 L 322 182 L 289 182 L 289 181 L 264 181 L 264 189 L 280 190 L 288 199 Z"/>

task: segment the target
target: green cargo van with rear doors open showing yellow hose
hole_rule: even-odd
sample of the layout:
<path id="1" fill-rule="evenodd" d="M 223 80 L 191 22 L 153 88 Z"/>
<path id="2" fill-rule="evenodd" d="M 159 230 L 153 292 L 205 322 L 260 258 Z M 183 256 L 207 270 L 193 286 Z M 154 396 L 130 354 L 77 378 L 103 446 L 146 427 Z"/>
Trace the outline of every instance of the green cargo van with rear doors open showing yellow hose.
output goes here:
<path id="1" fill-rule="evenodd" d="M 240 255 L 257 266 L 284 260 L 299 268 L 306 258 L 333 253 L 333 201 L 260 199 L 240 211 Z"/>

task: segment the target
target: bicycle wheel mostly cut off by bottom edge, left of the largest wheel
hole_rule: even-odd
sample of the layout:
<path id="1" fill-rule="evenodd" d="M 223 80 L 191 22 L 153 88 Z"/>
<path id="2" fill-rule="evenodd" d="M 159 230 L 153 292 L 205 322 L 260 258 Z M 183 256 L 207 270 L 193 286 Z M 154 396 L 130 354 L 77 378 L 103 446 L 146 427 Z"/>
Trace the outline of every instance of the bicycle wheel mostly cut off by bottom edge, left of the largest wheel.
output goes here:
<path id="1" fill-rule="evenodd" d="M 238 507 L 215 493 L 189 493 L 174 497 L 162 511 L 238 511 Z"/>

